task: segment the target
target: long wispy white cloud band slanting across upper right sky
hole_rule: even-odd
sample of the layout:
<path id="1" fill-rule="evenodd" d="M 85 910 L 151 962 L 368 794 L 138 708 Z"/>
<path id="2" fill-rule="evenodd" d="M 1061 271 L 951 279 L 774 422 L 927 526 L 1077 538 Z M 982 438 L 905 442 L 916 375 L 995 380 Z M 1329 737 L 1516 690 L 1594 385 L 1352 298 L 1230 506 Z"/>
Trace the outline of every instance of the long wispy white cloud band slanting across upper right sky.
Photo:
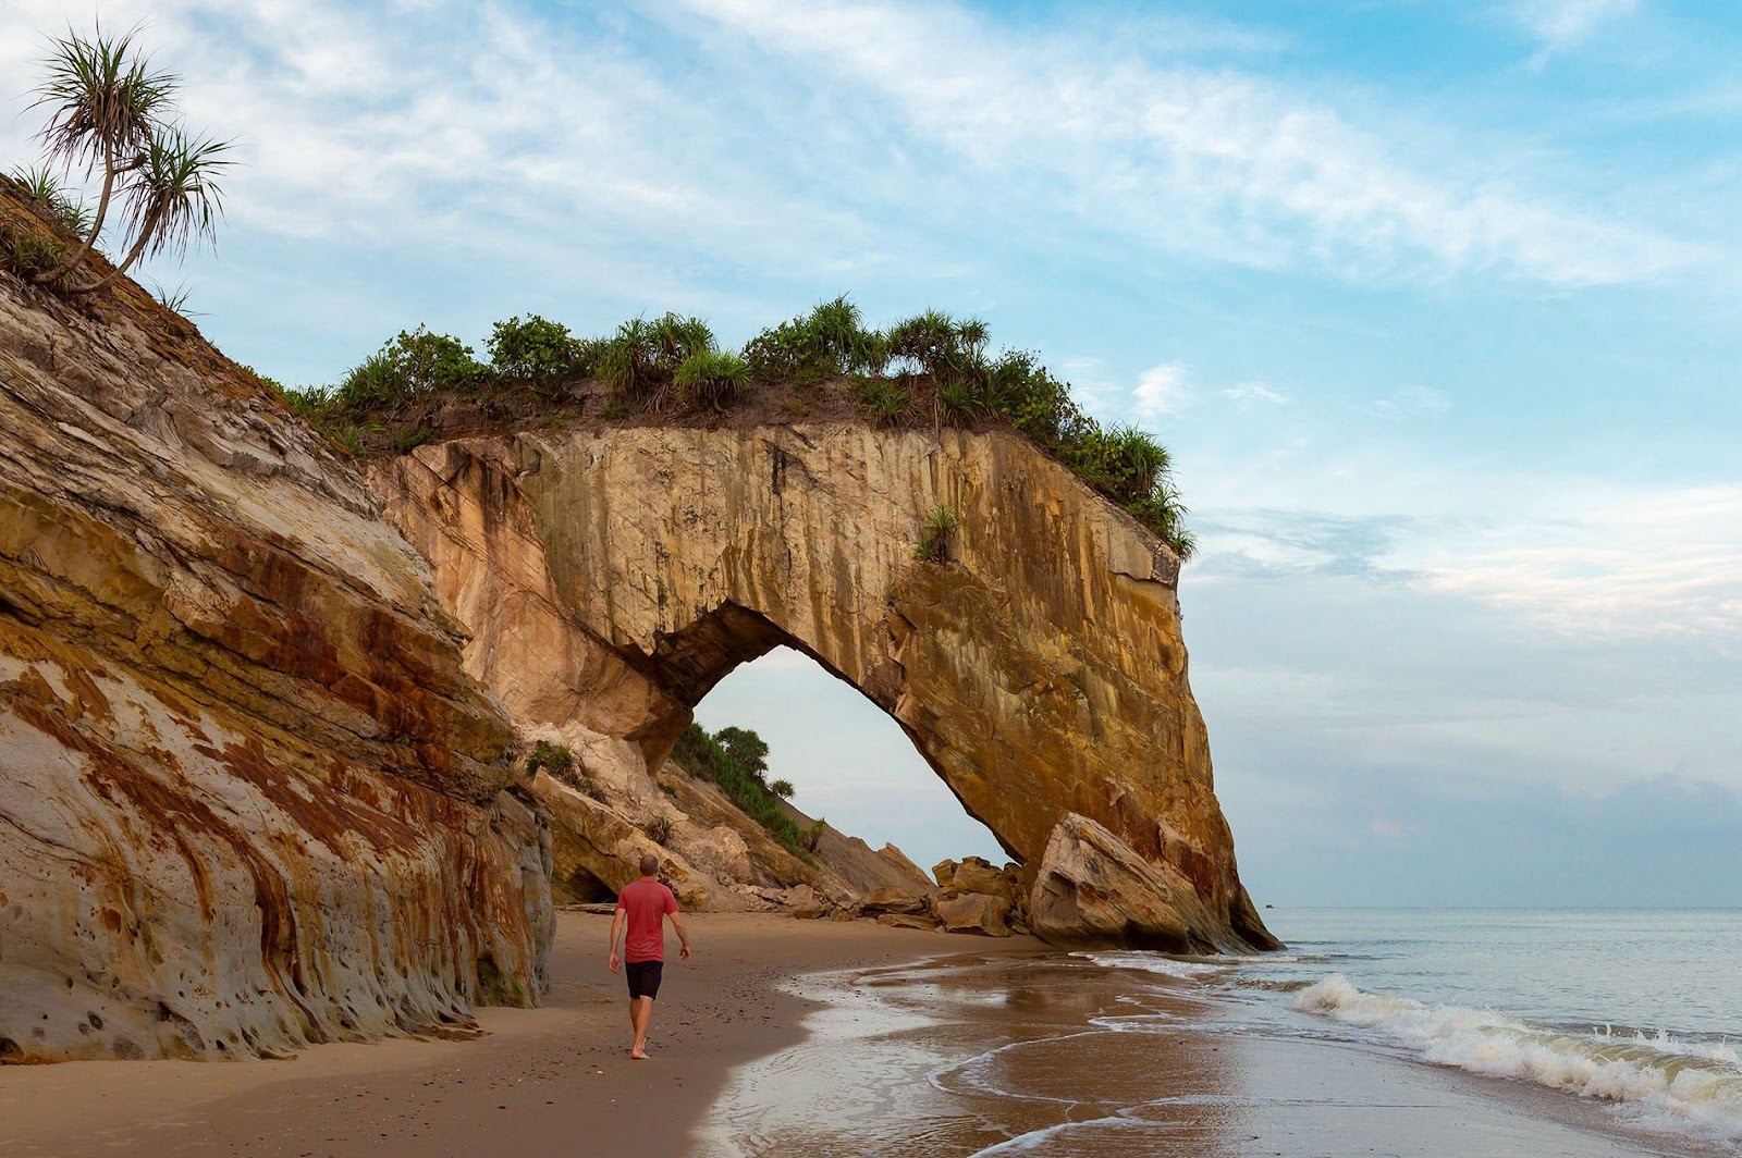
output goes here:
<path id="1" fill-rule="evenodd" d="M 960 9 L 690 0 L 787 64 L 857 87 L 970 169 L 1049 174 L 1097 225 L 1247 265 L 1653 279 L 1705 254 L 1465 171 L 1411 160 L 1334 108 L 1226 68 L 1158 64 L 1117 33 L 1000 31 Z M 1002 190 L 1016 197 L 1021 186 Z"/>

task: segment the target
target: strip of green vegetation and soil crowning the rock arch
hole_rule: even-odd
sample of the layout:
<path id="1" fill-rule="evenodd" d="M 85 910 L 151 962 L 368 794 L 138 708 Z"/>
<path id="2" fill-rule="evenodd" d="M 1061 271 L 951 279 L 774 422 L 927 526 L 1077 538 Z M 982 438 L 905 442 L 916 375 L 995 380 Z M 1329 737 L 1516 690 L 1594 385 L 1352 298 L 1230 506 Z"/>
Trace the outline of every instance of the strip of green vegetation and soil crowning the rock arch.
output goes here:
<path id="1" fill-rule="evenodd" d="M 1136 427 L 1104 427 L 1085 414 L 1070 385 L 1031 352 L 991 355 L 988 343 L 984 322 L 937 310 L 868 329 L 847 298 L 761 331 L 742 352 L 721 350 L 706 322 L 679 313 L 632 319 L 603 338 L 530 315 L 496 322 L 484 343 L 488 362 L 460 338 L 420 326 L 336 385 L 279 390 L 354 453 L 406 451 L 463 428 L 467 418 L 716 420 L 761 402 L 773 407 L 770 420 L 801 420 L 831 395 L 887 427 L 1002 425 L 1190 557 L 1197 543 L 1167 448 Z"/>

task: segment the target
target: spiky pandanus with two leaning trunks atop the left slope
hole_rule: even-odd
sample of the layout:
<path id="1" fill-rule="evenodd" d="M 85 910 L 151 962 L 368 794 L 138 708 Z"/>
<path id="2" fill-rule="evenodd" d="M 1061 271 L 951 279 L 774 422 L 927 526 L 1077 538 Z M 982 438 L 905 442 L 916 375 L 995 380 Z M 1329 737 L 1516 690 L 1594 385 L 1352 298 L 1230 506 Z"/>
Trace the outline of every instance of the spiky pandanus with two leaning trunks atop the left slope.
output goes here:
<path id="1" fill-rule="evenodd" d="M 101 190 L 84 244 L 37 280 L 66 282 L 96 249 L 117 200 L 127 216 L 125 256 L 113 273 L 73 293 L 103 289 L 139 258 L 211 239 L 223 209 L 214 178 L 232 164 L 230 143 L 193 139 L 172 122 L 178 80 L 150 66 L 134 33 L 68 31 L 52 42 L 44 68 L 37 106 L 49 110 L 49 124 L 38 139 L 64 171 L 101 174 Z"/>

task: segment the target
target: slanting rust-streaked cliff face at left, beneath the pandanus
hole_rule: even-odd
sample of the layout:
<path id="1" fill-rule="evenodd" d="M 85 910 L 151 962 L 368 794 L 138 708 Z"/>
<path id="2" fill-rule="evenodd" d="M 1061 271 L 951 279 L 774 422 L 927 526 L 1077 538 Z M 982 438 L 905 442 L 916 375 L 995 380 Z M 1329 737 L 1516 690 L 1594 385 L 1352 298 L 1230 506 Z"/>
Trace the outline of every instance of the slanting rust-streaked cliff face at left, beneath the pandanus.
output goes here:
<path id="1" fill-rule="evenodd" d="M 430 592 L 179 317 L 0 273 L 0 1060 L 537 1001 L 549 825 Z"/>

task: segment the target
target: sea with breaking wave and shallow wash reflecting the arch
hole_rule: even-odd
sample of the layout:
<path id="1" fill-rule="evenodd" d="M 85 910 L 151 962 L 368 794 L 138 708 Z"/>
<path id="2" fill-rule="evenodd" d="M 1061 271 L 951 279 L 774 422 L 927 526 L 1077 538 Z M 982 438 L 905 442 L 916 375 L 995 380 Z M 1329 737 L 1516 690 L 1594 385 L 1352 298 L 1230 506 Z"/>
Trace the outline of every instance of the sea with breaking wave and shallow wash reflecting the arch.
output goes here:
<path id="1" fill-rule="evenodd" d="M 796 979 L 808 1040 L 733 1073 L 702 1149 L 1742 1155 L 1742 909 L 1265 919 L 1286 951 Z"/>

